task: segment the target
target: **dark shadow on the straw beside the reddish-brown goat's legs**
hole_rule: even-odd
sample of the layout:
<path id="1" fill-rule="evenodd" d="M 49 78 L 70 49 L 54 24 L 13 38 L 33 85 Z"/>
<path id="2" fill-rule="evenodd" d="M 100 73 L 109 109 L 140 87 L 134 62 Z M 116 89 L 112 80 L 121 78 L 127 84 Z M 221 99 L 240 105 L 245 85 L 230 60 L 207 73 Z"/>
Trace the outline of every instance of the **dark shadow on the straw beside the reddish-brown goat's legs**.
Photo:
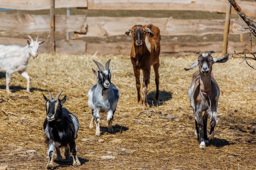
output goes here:
<path id="1" fill-rule="evenodd" d="M 162 106 L 164 102 L 172 98 L 172 93 L 170 91 L 159 91 L 160 101 L 155 99 L 156 91 L 151 91 L 148 93 L 148 105 L 151 106 Z"/>

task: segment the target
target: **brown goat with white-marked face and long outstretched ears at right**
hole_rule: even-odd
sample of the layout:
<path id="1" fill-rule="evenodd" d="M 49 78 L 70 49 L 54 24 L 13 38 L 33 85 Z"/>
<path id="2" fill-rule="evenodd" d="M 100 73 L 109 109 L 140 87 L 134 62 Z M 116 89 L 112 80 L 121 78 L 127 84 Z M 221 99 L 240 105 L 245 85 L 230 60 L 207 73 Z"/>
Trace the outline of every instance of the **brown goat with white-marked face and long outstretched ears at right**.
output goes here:
<path id="1" fill-rule="evenodd" d="M 210 132 L 209 140 L 214 139 L 214 128 L 218 121 L 217 107 L 220 96 L 220 88 L 211 74 L 214 63 L 224 63 L 229 60 L 229 54 L 222 58 L 213 58 L 209 53 L 201 51 L 198 60 L 195 61 L 190 68 L 184 68 L 186 71 L 199 66 L 199 71 L 193 74 L 192 82 L 189 87 L 190 106 L 194 111 L 195 117 L 195 136 L 199 141 L 199 148 L 204 149 L 208 144 L 207 137 L 207 118 L 210 116 Z M 204 114 L 203 114 L 204 112 Z"/>

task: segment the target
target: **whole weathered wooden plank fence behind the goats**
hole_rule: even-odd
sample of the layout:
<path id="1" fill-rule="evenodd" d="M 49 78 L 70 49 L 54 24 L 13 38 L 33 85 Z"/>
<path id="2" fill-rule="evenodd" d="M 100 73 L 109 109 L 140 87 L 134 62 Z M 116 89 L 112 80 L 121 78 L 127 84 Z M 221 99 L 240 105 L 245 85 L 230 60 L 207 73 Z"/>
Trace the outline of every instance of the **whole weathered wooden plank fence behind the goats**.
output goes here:
<path id="1" fill-rule="evenodd" d="M 54 0 L 1 0 L 0 8 L 18 10 L 50 9 Z M 256 17 L 256 3 L 238 1 L 240 7 L 252 18 Z M 87 9 L 107 10 L 186 10 L 186 11 L 211 11 L 225 13 L 227 0 L 55 0 L 54 8 L 79 7 Z M 79 10 L 79 9 L 78 9 Z M 231 13 L 236 13 L 233 9 Z M 158 26 L 162 36 L 179 35 L 209 35 L 224 34 L 225 20 L 180 20 L 173 18 L 144 17 L 86 17 L 85 15 L 55 15 L 54 22 L 49 15 L 13 14 L 0 15 L 0 30 L 20 33 L 36 33 L 52 31 L 52 42 L 43 44 L 44 52 L 49 52 L 53 45 L 56 53 L 94 53 L 99 50 L 102 54 L 129 54 L 131 43 L 86 43 L 79 38 L 124 35 L 125 31 L 135 24 L 153 23 Z M 54 23 L 51 29 L 51 22 Z M 246 24 L 239 19 L 230 20 L 228 32 L 231 35 L 241 34 L 238 29 L 243 29 Z M 76 32 L 78 40 L 54 40 L 55 31 Z M 18 38 L 0 38 L 1 44 L 20 44 Z M 80 43 L 80 44 L 79 44 Z M 229 53 L 242 52 L 249 49 L 247 42 L 229 42 Z M 222 42 L 197 42 L 162 43 L 162 53 L 190 53 L 195 51 L 222 52 Z M 74 50 L 75 49 L 75 50 Z"/>

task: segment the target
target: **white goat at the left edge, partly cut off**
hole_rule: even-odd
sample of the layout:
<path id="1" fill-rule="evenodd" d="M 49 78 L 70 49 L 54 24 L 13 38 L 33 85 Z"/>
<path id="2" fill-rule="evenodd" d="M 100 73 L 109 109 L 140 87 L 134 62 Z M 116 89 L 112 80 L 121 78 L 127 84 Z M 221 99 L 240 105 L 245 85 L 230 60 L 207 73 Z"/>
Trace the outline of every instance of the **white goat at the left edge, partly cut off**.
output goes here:
<path id="1" fill-rule="evenodd" d="M 27 35 L 30 41 L 27 40 L 27 46 L 22 47 L 18 45 L 0 45 L 0 71 L 6 72 L 6 91 L 11 93 L 9 84 L 11 82 L 11 75 L 14 72 L 20 73 L 22 77 L 27 79 L 27 92 L 29 92 L 29 75 L 26 73 L 29 58 L 32 55 L 34 58 L 38 56 L 39 45 L 44 41 L 38 42 Z"/>

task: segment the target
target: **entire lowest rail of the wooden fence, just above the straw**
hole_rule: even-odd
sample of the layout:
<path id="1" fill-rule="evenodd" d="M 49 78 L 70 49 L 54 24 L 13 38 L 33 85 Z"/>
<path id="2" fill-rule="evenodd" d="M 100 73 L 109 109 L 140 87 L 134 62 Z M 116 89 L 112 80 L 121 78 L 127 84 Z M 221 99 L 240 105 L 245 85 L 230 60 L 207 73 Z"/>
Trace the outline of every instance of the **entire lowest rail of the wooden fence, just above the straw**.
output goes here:
<path id="1" fill-rule="evenodd" d="M 20 38 L 7 38 L 0 37 L 0 44 L 26 46 L 26 39 Z M 109 43 L 86 43 L 82 40 L 57 40 L 56 53 L 69 53 L 69 54 L 94 54 L 98 50 L 98 54 L 123 54 L 130 55 L 132 42 L 109 42 Z M 238 53 L 249 50 L 249 42 L 229 42 L 228 53 Z M 253 42 L 256 46 L 256 42 Z M 215 51 L 216 53 L 222 52 L 222 42 L 171 42 L 161 44 L 161 55 L 172 54 L 189 54 L 197 51 Z M 46 40 L 40 45 L 39 53 L 49 53 L 50 44 Z M 253 49 L 256 52 L 256 49 Z"/>

